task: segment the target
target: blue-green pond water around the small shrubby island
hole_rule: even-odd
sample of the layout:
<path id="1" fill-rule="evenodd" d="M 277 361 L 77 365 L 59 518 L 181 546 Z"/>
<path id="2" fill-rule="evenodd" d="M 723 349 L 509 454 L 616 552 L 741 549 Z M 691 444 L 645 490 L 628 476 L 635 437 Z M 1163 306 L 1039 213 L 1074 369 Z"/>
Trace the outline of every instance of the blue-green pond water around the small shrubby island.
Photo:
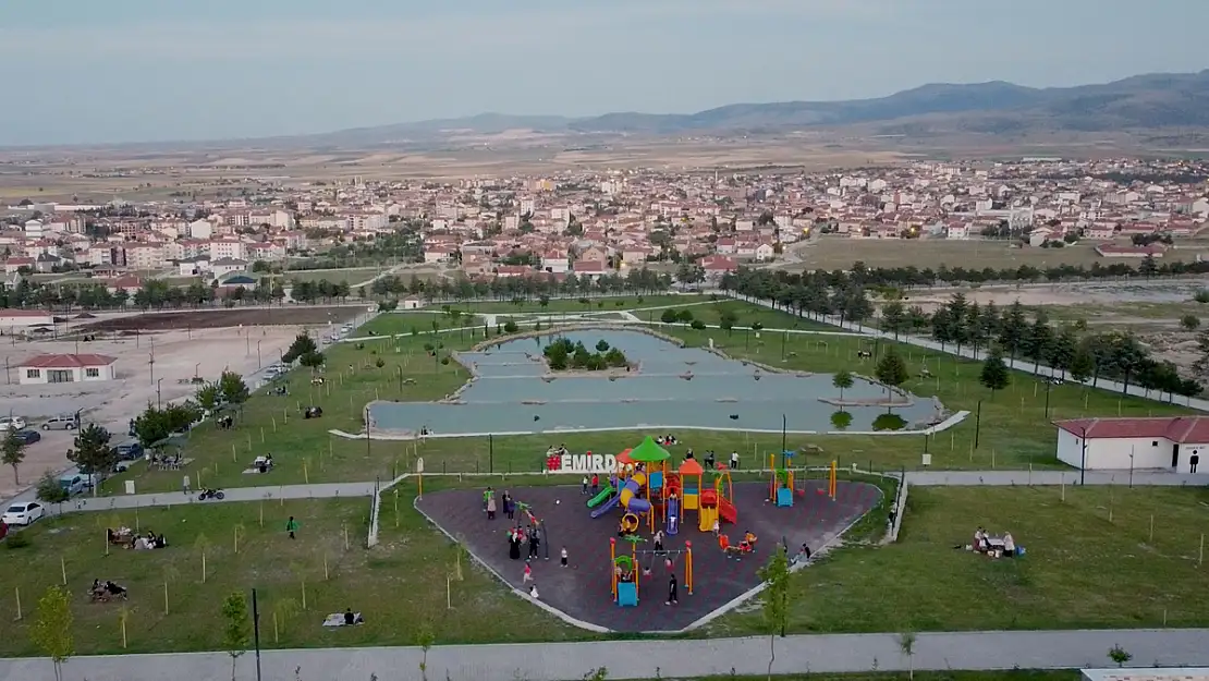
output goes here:
<path id="1" fill-rule="evenodd" d="M 818 398 L 837 398 L 831 374 L 796 376 L 757 370 L 702 348 L 682 348 L 666 340 L 625 330 L 585 329 L 563 334 L 595 350 L 603 340 L 640 369 L 617 380 L 557 375 L 543 380 L 542 350 L 553 336 L 519 339 L 458 359 L 476 367 L 479 379 L 462 391 L 463 404 L 387 403 L 370 406 L 376 428 L 434 434 L 540 433 L 557 429 L 717 428 L 789 432 L 898 429 L 936 419 L 931 398 L 909 406 L 839 408 Z M 779 357 L 769 353 L 769 363 Z M 693 379 L 682 376 L 692 373 Z M 754 376 L 759 375 L 757 380 Z M 856 379 L 845 400 L 884 399 L 880 386 Z"/>

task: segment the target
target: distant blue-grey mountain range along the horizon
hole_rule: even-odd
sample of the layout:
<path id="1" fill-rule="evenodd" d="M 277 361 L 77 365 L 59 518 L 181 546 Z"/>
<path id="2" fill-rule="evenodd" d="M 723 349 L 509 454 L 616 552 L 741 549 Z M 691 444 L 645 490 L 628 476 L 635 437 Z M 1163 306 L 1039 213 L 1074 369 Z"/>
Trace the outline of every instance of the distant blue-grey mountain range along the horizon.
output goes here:
<path id="1" fill-rule="evenodd" d="M 1147 74 L 1075 87 L 1003 81 L 931 83 L 875 99 L 730 104 L 695 114 L 614 112 L 569 119 L 481 114 L 295 138 L 312 144 L 389 144 L 533 131 L 553 135 L 777 133 L 860 125 L 879 134 L 1036 129 L 1089 133 L 1209 128 L 1209 69 Z"/>

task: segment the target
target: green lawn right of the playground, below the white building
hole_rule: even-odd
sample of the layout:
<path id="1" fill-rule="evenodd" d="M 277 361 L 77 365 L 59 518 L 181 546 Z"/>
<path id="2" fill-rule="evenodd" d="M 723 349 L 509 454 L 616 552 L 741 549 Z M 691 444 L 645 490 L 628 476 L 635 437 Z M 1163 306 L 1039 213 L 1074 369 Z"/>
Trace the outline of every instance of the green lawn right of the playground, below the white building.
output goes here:
<path id="1" fill-rule="evenodd" d="M 897 543 L 845 547 L 794 576 L 789 629 L 1204 627 L 1207 504 L 1204 489 L 915 486 Z M 1028 553 L 994 561 L 955 548 L 979 525 Z M 708 633 L 759 627 L 751 611 Z"/>

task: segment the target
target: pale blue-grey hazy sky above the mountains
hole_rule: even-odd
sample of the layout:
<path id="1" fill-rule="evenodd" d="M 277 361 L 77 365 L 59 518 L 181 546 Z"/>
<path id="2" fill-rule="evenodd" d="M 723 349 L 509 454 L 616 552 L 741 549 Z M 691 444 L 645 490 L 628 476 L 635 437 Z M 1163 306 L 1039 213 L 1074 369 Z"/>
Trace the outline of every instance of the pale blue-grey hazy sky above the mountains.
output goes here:
<path id="1" fill-rule="evenodd" d="M 1198 71 L 1209 2 L 7 0 L 0 145 L 692 112 Z"/>

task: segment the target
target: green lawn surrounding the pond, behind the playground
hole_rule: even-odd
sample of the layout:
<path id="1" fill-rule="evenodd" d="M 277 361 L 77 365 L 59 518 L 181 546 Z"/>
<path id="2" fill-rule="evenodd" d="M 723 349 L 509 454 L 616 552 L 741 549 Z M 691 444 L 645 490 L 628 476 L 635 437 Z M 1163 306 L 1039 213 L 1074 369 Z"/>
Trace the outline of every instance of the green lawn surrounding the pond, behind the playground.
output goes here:
<path id="1" fill-rule="evenodd" d="M 696 308 L 713 310 L 717 305 L 706 304 Z M 763 310 L 757 317 L 756 310 L 752 306 L 737 307 L 740 323 L 746 318 L 760 318 L 767 321 L 769 328 L 791 327 L 794 319 L 771 310 Z M 412 316 L 401 313 L 380 316 L 378 319 L 406 319 Z M 449 322 L 447 316 L 436 317 L 442 323 Z M 906 383 L 907 389 L 924 398 L 936 396 L 951 410 L 977 412 L 982 400 L 980 419 L 972 414 L 962 423 L 926 443 L 933 468 L 1060 467 L 1054 457 L 1057 434 L 1048 425 L 1049 420 L 1084 415 L 1149 416 L 1187 412 L 1179 406 L 1068 383 L 1052 387 L 1049 419 L 1046 419 L 1046 383 L 1031 375 L 1013 373 L 1011 386 L 990 396 L 977 382 L 980 363 L 913 346 L 875 344 L 856 336 L 785 334 L 769 328 L 759 333 L 741 329 L 727 333 L 721 329 L 698 331 L 660 328 L 692 346 L 708 345 L 712 337 L 717 347 L 733 357 L 815 373 L 849 369 L 870 375 L 874 371 L 873 360 L 858 359 L 857 352 L 872 351 L 874 346 L 884 352 L 887 346 L 897 346 L 915 376 Z M 488 330 L 492 335 L 496 334 L 496 329 Z M 634 446 L 647 434 L 635 429 L 551 432 L 490 440 L 434 438 L 417 448 L 415 443 L 398 440 L 371 440 L 366 446 L 365 440 L 349 440 L 329 433 L 332 428 L 349 433 L 361 432 L 364 408 L 372 399 L 433 400 L 455 392 L 469 379 L 469 374 L 455 360 L 442 364 L 441 358 L 447 352 L 468 348 L 481 340 L 478 329 L 445 330 L 440 334 L 417 329 L 416 335 L 409 331 L 398 337 L 337 344 L 326 350 L 324 386 L 312 386 L 308 370 L 295 370 L 284 381 L 290 389 L 289 397 L 267 396 L 261 389 L 247 403 L 233 431 L 218 431 L 210 423 L 195 429 L 184 445 L 184 455 L 193 458 L 184 473 L 147 472 L 138 466 L 127 475 L 134 477 L 139 491 L 154 492 L 179 489 L 181 474 L 190 474 L 195 487 L 201 484 L 235 487 L 358 481 L 375 477 L 387 479 L 410 469 L 416 455 L 426 458 L 432 472 L 534 471 L 540 466 L 542 452 L 550 445 L 562 443 L 573 451 L 620 451 Z M 441 347 L 438 357 L 433 358 L 424 346 L 438 344 Z M 383 362 L 382 368 L 376 367 L 378 359 Z M 932 373 L 932 379 L 918 376 L 924 367 Z M 324 409 L 323 419 L 305 421 L 300 417 L 299 406 L 311 404 Z M 976 431 L 978 449 L 973 448 Z M 745 466 L 753 466 L 763 461 L 767 452 L 781 449 L 779 433 L 696 431 L 677 435 L 683 444 L 673 448 L 676 455 L 681 455 L 679 450 L 687 448 L 699 452 L 712 449 L 719 456 L 739 451 Z M 857 462 L 874 469 L 898 469 L 920 467 L 925 438 L 791 433 L 785 444 L 791 449 L 821 450 L 821 454 L 808 456 L 812 464 L 834 458 L 844 464 Z M 274 455 L 277 468 L 268 477 L 244 474 L 243 471 L 251 460 L 264 452 Z M 105 489 L 120 494 L 123 479 L 126 477 L 110 481 Z"/>

